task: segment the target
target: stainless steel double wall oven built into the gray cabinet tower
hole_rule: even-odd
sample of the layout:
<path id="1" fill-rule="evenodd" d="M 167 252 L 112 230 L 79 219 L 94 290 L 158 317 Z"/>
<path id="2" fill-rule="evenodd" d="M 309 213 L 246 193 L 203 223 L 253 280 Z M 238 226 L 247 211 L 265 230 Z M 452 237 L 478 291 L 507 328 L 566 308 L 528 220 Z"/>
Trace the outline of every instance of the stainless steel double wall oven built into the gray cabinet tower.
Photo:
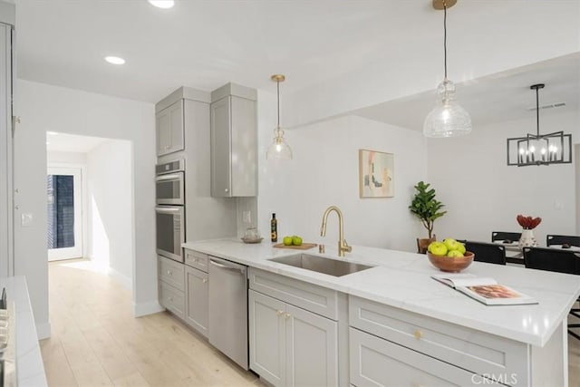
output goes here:
<path id="1" fill-rule="evenodd" d="M 183 262 L 185 242 L 185 161 L 155 167 L 157 254 Z"/>

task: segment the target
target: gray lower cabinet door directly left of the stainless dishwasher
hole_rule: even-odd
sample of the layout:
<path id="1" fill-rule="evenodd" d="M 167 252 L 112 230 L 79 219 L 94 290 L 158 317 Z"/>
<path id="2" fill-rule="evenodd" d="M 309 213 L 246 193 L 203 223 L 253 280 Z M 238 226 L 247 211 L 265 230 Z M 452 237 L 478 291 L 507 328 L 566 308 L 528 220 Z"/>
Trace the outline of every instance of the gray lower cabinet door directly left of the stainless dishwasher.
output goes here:
<path id="1" fill-rule="evenodd" d="M 208 336 L 208 273 L 186 266 L 185 321 Z"/>

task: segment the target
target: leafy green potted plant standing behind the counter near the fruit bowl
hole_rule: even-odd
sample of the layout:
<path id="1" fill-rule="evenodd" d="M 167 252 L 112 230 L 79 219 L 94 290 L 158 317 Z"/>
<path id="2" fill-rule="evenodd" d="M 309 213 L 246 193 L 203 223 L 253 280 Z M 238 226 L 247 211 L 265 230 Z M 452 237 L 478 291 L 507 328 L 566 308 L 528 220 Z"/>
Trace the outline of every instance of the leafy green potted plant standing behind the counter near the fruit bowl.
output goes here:
<path id="1" fill-rule="evenodd" d="M 427 251 L 429 244 L 435 240 L 433 235 L 433 222 L 435 219 L 442 217 L 447 211 L 442 211 L 445 207 L 443 203 L 435 198 L 435 189 L 430 189 L 430 184 L 420 181 L 415 188 L 415 196 L 411 201 L 409 209 L 420 219 L 423 227 L 427 229 L 429 238 L 417 238 L 417 248 L 421 254 Z"/>

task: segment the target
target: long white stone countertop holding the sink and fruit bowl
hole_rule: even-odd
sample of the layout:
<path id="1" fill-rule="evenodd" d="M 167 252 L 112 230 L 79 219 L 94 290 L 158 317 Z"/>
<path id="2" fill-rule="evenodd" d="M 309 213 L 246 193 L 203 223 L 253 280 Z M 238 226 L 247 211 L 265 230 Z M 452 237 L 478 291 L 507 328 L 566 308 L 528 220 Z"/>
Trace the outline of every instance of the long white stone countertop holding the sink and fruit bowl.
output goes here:
<path id="1" fill-rule="evenodd" d="M 431 266 L 427 256 L 375 247 L 354 246 L 352 253 L 338 257 L 336 247 L 326 246 L 326 254 L 319 254 L 317 247 L 295 250 L 275 248 L 269 242 L 245 244 L 236 239 L 187 242 L 182 246 L 348 295 L 538 346 L 544 346 L 580 295 L 580 276 L 473 262 L 462 273 L 492 277 L 499 284 L 531 295 L 539 302 L 537 305 L 483 305 L 431 279 L 431 275 L 442 272 Z M 300 253 L 375 267 L 335 277 L 268 261 L 275 256 Z"/>

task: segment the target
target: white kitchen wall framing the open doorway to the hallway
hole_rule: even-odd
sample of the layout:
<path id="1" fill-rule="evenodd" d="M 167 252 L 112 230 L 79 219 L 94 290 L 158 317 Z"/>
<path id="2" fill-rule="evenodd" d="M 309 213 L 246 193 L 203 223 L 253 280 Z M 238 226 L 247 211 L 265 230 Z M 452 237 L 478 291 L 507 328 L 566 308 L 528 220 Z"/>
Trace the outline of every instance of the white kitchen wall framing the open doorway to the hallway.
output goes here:
<path id="1" fill-rule="evenodd" d="M 15 80 L 14 216 L 33 214 L 30 227 L 14 227 L 14 272 L 26 276 L 40 337 L 50 334 L 46 252 L 46 131 L 131 140 L 134 208 L 133 312 L 159 310 L 155 256 L 155 113 L 134 102 L 48 84 Z M 137 187 L 138 189 L 135 189 Z"/>

